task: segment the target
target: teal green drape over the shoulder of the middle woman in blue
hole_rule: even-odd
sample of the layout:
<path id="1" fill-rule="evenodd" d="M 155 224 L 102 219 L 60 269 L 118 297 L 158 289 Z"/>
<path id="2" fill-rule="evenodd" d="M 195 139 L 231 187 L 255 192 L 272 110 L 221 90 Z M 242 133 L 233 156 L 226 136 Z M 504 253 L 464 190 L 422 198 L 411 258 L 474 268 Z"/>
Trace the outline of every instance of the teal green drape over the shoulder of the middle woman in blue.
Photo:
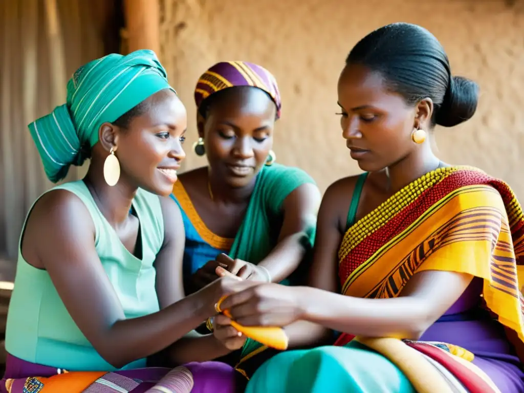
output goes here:
<path id="1" fill-rule="evenodd" d="M 304 183 L 315 184 L 314 180 L 299 168 L 286 167 L 277 163 L 265 166 L 258 174 L 242 225 L 231 247 L 229 256 L 258 264 L 277 244 L 280 225 L 271 225 L 270 217 L 280 215 L 286 197 Z M 307 228 L 304 246 L 311 250 L 315 239 L 316 220 Z M 309 255 L 311 253 L 308 253 Z M 306 261 L 306 265 L 308 262 Z M 288 283 L 288 282 L 283 282 Z M 261 344 L 248 339 L 242 348 L 241 357 L 253 352 Z"/>

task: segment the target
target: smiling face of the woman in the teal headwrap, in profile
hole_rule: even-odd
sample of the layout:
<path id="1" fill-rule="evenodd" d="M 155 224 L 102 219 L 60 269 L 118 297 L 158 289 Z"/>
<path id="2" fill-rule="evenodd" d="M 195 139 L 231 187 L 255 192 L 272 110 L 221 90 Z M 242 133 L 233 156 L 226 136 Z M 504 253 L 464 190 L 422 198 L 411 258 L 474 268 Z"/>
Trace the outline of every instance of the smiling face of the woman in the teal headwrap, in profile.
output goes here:
<path id="1" fill-rule="evenodd" d="M 121 176 L 149 192 L 167 196 L 185 157 L 185 107 L 171 90 L 150 96 L 141 106 L 144 110 L 132 117 L 125 129 L 114 130 Z"/>

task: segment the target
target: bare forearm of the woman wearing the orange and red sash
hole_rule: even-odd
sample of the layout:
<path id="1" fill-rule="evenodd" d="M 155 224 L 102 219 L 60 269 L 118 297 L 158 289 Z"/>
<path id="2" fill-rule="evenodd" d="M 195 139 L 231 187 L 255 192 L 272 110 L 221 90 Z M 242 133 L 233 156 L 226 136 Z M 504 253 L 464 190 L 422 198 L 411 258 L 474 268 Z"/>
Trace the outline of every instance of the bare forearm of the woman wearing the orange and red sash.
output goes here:
<path id="1" fill-rule="evenodd" d="M 301 287 L 302 319 L 336 331 L 368 337 L 417 339 L 434 318 L 414 297 L 362 299 Z"/>

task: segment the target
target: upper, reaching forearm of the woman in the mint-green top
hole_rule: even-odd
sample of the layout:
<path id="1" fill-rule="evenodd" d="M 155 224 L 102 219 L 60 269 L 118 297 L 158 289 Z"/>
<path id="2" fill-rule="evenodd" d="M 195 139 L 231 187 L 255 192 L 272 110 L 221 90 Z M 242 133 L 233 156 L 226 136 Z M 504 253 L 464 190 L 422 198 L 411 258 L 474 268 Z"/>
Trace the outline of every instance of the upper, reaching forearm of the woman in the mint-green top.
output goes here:
<path id="1" fill-rule="evenodd" d="M 95 347 L 117 368 L 160 352 L 214 313 L 201 298 L 195 293 L 154 314 L 117 321 Z"/>

